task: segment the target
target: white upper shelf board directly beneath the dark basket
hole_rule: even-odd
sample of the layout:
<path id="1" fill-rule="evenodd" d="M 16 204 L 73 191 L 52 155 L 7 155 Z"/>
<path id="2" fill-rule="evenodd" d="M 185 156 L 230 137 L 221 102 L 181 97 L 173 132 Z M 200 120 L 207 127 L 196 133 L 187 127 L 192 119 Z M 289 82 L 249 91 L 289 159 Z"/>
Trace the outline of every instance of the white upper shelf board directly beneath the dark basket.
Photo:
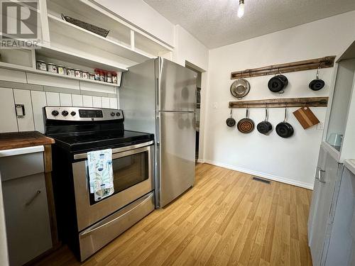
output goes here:
<path id="1" fill-rule="evenodd" d="M 59 31 L 61 33 L 65 33 L 65 35 L 75 40 L 84 40 L 86 44 L 100 48 L 107 52 L 111 52 L 114 55 L 127 58 L 134 62 L 140 63 L 153 58 L 151 55 L 132 50 L 126 45 L 122 45 L 121 43 L 117 43 L 114 40 L 110 40 L 108 38 L 97 35 L 96 33 L 92 33 L 91 31 L 87 31 L 84 28 L 80 28 L 79 26 L 76 26 L 72 23 L 68 23 L 67 21 L 62 20 L 61 18 L 57 18 L 56 16 L 48 14 L 48 18 L 50 31 L 55 27 L 56 32 Z"/>

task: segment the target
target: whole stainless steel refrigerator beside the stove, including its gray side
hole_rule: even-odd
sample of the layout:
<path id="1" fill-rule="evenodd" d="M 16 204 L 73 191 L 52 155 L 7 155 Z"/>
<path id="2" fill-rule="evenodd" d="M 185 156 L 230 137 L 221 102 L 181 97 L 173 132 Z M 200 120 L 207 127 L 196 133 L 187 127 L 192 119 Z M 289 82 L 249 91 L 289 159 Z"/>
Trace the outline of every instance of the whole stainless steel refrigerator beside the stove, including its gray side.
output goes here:
<path id="1" fill-rule="evenodd" d="M 195 182 L 196 76 L 161 57 L 123 73 L 119 102 L 125 129 L 155 134 L 158 208 Z"/>

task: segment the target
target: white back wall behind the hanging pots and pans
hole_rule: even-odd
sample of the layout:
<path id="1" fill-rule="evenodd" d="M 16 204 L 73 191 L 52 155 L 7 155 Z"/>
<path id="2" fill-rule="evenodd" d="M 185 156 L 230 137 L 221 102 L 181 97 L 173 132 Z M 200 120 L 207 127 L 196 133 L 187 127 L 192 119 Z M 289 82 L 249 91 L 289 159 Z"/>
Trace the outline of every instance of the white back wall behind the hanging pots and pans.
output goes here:
<path id="1" fill-rule="evenodd" d="M 352 11 L 210 50 L 204 160 L 312 188 L 322 131 L 315 127 L 305 131 L 292 114 L 295 109 L 288 111 L 288 121 L 295 128 L 292 138 L 280 138 L 275 131 L 269 136 L 261 135 L 256 130 L 244 135 L 236 128 L 228 128 L 225 124 L 229 116 L 228 102 L 236 101 L 229 92 L 233 82 L 230 74 L 247 68 L 338 55 L 354 38 L 355 11 Z M 328 96 L 333 69 L 321 70 L 320 77 L 327 85 L 320 92 L 308 89 L 308 83 L 315 78 L 315 72 L 310 70 L 285 74 L 289 85 L 282 95 L 268 90 L 267 83 L 271 76 L 250 78 L 251 92 L 244 100 Z M 212 108 L 214 103 L 218 104 L 217 109 Z M 312 108 L 312 111 L 320 121 L 324 121 L 325 108 Z M 245 109 L 234 109 L 236 121 L 244 116 Z M 283 120 L 283 109 L 271 109 L 269 116 L 275 127 Z M 257 124 L 263 120 L 264 110 L 251 109 L 250 117 Z"/>

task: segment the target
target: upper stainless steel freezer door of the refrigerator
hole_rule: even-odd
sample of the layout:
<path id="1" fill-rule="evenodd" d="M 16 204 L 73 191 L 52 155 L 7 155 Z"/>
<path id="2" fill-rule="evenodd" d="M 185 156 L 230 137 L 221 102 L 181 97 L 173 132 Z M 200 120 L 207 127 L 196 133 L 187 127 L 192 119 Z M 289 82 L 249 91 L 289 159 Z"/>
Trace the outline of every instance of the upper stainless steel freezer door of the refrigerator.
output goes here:
<path id="1" fill-rule="evenodd" d="M 158 58 L 158 110 L 195 111 L 197 73 L 181 65 Z"/>

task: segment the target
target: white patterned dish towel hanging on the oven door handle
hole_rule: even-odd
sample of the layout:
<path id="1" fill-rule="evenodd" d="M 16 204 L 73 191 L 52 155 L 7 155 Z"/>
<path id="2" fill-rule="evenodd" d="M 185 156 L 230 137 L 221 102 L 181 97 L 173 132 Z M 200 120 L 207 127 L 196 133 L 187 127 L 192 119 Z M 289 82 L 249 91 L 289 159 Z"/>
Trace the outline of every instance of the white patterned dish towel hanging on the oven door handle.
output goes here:
<path id="1" fill-rule="evenodd" d="M 94 150 L 87 153 L 89 168 L 89 188 L 94 201 L 99 201 L 114 193 L 112 171 L 112 149 Z"/>

